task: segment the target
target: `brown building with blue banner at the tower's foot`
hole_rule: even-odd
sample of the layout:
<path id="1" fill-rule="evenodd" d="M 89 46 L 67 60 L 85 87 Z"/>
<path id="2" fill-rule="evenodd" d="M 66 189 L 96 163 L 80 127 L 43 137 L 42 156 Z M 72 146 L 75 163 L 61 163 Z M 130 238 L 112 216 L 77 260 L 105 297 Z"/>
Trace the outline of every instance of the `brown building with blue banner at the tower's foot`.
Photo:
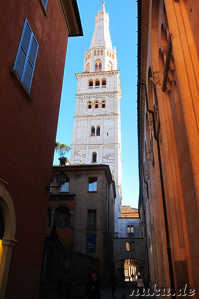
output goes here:
<path id="1" fill-rule="evenodd" d="M 116 192 L 110 168 L 103 164 L 54 166 L 52 186 L 56 186 L 56 173 L 60 170 L 64 171 L 68 178 L 61 189 L 52 187 L 49 194 L 46 237 L 49 238 L 55 224 L 58 240 L 64 249 L 99 260 L 93 268 L 88 264 L 89 259 L 85 258 L 78 268 L 72 267 L 73 261 L 69 260 L 67 275 L 74 289 L 78 289 L 78 285 L 82 284 L 85 292 L 85 283 L 93 270 L 101 279 L 101 286 L 106 287 L 114 271 Z"/>

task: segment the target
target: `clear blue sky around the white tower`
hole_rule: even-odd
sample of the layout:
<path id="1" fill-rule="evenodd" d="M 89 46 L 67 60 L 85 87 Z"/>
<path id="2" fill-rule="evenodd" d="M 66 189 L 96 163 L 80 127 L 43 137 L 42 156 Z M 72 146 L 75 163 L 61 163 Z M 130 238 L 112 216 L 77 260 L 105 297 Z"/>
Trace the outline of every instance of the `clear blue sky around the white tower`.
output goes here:
<path id="1" fill-rule="evenodd" d="M 57 130 L 57 141 L 71 145 L 76 104 L 77 79 L 83 72 L 85 50 L 89 49 L 95 27 L 95 15 L 101 0 L 78 0 L 83 37 L 69 37 Z M 121 155 L 122 205 L 138 207 L 138 137 L 137 137 L 137 3 L 136 0 L 106 0 L 109 30 L 116 47 L 117 69 L 121 82 Z M 66 155 L 70 160 L 70 152 Z M 54 165 L 59 164 L 55 154 Z"/>

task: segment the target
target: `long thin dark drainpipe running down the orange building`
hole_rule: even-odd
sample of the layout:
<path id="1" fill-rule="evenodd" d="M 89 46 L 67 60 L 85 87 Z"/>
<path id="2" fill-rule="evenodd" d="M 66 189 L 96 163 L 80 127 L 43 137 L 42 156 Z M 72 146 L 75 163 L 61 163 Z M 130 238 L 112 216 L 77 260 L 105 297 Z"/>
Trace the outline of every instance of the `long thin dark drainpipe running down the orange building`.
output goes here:
<path id="1" fill-rule="evenodd" d="M 170 249 L 170 238 L 169 238 L 169 230 L 168 230 L 168 218 L 166 212 L 166 201 L 165 201 L 165 193 L 164 193 L 164 182 L 163 182 L 163 174 L 162 174 L 162 162 L 160 155 L 160 143 L 158 136 L 156 135 L 156 124 L 154 111 L 148 109 L 148 96 L 147 96 L 147 88 L 145 83 L 141 83 L 140 79 L 138 79 L 138 83 L 143 85 L 145 88 L 145 100 L 146 100 L 146 110 L 152 114 L 153 118 L 153 126 L 154 126 L 154 138 L 157 141 L 157 151 L 158 151 L 158 162 L 159 162 L 159 171 L 160 171 L 160 182 L 161 182 L 161 191 L 162 191 L 162 203 L 163 203 L 163 212 L 164 212 L 164 225 L 165 225 L 165 233 L 166 233 L 166 249 L 168 256 L 168 267 L 169 267 L 169 277 L 170 277 L 170 286 L 171 286 L 171 294 L 173 298 L 176 298 L 174 281 L 173 281 L 173 268 L 172 268 L 172 258 L 171 258 L 171 249 Z"/>

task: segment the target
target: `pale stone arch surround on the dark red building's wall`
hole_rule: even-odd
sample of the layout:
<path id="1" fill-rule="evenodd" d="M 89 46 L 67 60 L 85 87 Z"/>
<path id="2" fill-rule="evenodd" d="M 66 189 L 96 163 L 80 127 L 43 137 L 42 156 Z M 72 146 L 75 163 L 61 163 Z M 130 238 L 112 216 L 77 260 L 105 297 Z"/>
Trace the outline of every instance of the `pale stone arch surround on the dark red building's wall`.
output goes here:
<path id="1" fill-rule="evenodd" d="M 16 233 L 16 215 L 14 203 L 10 193 L 6 190 L 7 182 L 0 179 L 0 207 L 3 212 L 5 230 L 2 239 L 0 252 L 0 297 L 5 297 L 6 286 L 8 281 L 8 274 L 10 268 L 10 261 L 12 256 L 12 249 L 17 242 L 15 240 Z"/>

